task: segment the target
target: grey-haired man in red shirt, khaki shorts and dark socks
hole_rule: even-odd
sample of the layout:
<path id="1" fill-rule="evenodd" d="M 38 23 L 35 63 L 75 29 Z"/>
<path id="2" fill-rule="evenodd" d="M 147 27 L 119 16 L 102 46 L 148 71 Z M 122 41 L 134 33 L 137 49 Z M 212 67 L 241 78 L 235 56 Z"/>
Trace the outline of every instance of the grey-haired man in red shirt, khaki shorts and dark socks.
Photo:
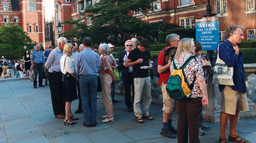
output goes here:
<path id="1" fill-rule="evenodd" d="M 170 34 L 166 36 L 166 45 L 165 51 L 171 47 L 178 47 L 179 45 L 179 35 Z M 174 113 L 174 99 L 170 98 L 166 91 L 166 82 L 170 76 L 170 65 L 172 63 L 172 58 L 169 58 L 168 63 L 165 63 L 165 51 L 162 50 L 159 53 L 157 60 L 157 71 L 159 72 L 158 85 L 161 86 L 163 94 L 163 128 L 161 134 L 167 136 L 168 138 L 177 138 L 177 130 L 172 126 L 172 116 Z"/>

